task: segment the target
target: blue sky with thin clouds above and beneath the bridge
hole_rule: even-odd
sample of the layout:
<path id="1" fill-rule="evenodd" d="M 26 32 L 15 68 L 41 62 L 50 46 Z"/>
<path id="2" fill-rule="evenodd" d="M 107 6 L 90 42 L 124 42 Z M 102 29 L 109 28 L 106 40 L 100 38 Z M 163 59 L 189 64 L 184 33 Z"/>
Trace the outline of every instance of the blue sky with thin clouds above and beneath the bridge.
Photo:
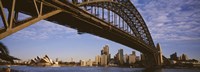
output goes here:
<path id="1" fill-rule="evenodd" d="M 177 52 L 200 60 L 200 1 L 199 0 L 131 0 L 152 35 L 160 43 L 163 55 Z M 20 19 L 25 18 L 21 16 Z M 2 20 L 1 20 L 2 25 Z M 29 60 L 49 55 L 63 61 L 94 60 L 103 46 L 109 45 L 111 56 L 122 48 L 124 54 L 136 51 L 119 43 L 48 21 L 39 21 L 2 40 L 12 56 Z M 136 52 L 140 55 L 140 52 Z"/>

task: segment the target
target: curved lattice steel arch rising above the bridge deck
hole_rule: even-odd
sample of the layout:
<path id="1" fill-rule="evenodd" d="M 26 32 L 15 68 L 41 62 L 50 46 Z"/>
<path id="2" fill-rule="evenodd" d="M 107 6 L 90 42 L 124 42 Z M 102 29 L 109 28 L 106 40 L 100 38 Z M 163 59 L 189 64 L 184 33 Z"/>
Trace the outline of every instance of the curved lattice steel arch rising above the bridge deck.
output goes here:
<path id="1" fill-rule="evenodd" d="M 96 6 L 116 13 L 128 24 L 135 34 L 134 37 L 155 48 L 145 21 L 130 0 L 73 0 L 73 3 L 78 7 Z"/>

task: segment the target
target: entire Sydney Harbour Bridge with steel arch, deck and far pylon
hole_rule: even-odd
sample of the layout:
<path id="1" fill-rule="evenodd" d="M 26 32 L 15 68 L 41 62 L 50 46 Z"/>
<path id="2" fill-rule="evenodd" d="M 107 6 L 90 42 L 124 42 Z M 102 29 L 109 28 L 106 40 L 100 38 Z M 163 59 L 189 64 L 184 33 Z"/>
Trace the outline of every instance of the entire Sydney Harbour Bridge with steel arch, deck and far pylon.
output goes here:
<path id="1" fill-rule="evenodd" d="M 0 0 L 0 9 L 0 39 L 46 20 L 138 50 L 146 67 L 161 66 L 160 47 L 130 0 Z M 20 13 L 30 17 L 19 20 Z"/>

